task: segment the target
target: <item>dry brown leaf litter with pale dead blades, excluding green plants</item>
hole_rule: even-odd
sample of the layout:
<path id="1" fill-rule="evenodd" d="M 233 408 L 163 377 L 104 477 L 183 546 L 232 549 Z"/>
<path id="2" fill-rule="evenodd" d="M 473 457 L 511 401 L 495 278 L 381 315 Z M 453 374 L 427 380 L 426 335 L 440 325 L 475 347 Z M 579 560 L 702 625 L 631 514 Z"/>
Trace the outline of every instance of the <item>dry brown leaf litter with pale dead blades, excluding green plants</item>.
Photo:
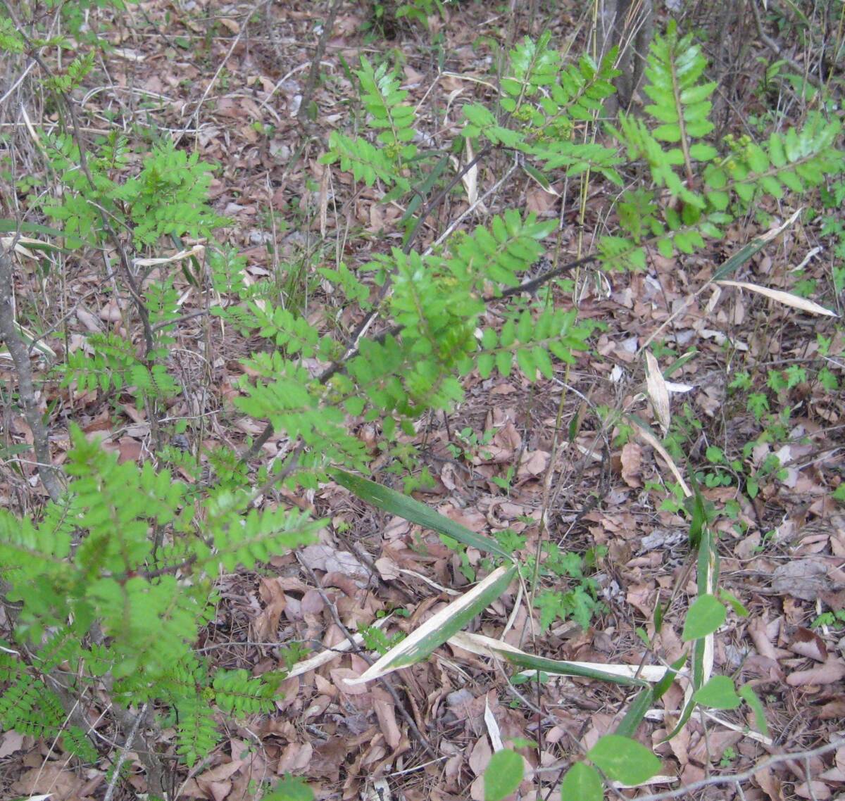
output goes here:
<path id="1" fill-rule="evenodd" d="M 186 10 L 189 7 L 211 10 L 203 2 L 185 4 Z M 373 190 L 359 193 L 347 208 L 335 209 L 329 200 L 329 171 L 319 165 L 316 151 L 296 166 L 287 166 L 291 143 L 299 135 L 298 104 L 313 57 L 313 25 L 320 18 L 314 8 L 268 8 L 272 35 L 247 30 L 231 54 L 227 50 L 233 37 L 246 25 L 244 13 L 250 10 L 246 6 L 221 9 L 218 19 L 228 33 L 210 37 L 205 60 L 174 52 L 175 57 L 162 62 L 155 37 L 143 35 L 135 41 L 127 34 L 123 41 L 117 34 L 114 44 L 120 49 L 113 53 L 112 65 L 115 98 L 132 86 L 160 96 L 162 113 L 173 129 L 187 125 L 200 155 L 221 162 L 222 174 L 215 177 L 212 196 L 217 209 L 234 221 L 231 243 L 247 259 L 243 275 L 248 282 L 276 274 L 279 261 L 298 258 L 303 243 L 312 237 L 336 236 L 349 225 L 378 237 L 395 226 L 399 215 L 394 207 L 380 204 Z M 207 35 L 206 24 L 191 14 L 172 14 L 166 24 L 165 11 L 164 3 L 145 4 L 145 14 L 158 20 L 162 30 L 170 26 L 169 35 L 194 40 Z M 423 102 L 438 83 L 447 106 L 483 87 L 488 70 L 470 44 L 478 31 L 495 32 L 496 24 L 482 8 L 461 7 L 460 14 L 471 15 L 473 24 L 441 29 L 455 64 L 439 78 L 422 48 L 415 51 L 419 38 L 403 42 L 410 61 L 406 80 L 417 101 Z M 347 62 L 357 57 L 364 21 L 361 6 L 344 7 L 336 21 L 321 63 L 330 80 L 319 86 L 315 96 L 318 123 L 325 130 L 342 123 L 341 100 L 352 87 L 344 77 L 341 57 Z M 130 41 L 131 48 L 126 46 Z M 215 70 L 224 61 L 228 89 L 214 84 Z M 200 96 L 199 87 L 211 90 L 208 98 Z M 102 93 L 101 102 L 112 95 Z M 131 108 L 124 111 L 133 114 Z M 271 133 L 259 135 L 259 125 L 271 126 Z M 334 174 L 331 180 L 348 183 L 349 177 Z M 466 200 L 472 202 L 493 178 L 478 170 L 468 174 L 465 183 Z M 511 200 L 540 214 L 556 215 L 560 189 L 555 186 L 548 192 L 532 185 L 524 197 Z M 302 230 L 268 230 L 272 228 L 268 215 L 292 207 L 317 213 L 311 219 L 303 217 Z M 729 236 L 744 242 L 746 233 L 734 231 Z M 764 232 L 762 238 L 772 237 Z M 726 247 L 730 244 L 726 242 Z M 797 253 L 803 246 L 797 237 L 792 242 Z M 361 255 L 347 253 L 346 258 Z M 187 256 L 176 253 L 162 257 L 161 263 Z M 155 261 L 147 259 L 145 264 L 152 266 Z M 401 649 L 401 641 L 390 645 L 393 638 L 413 643 L 415 634 L 422 631 L 424 636 L 426 625 L 448 604 L 472 593 L 470 576 L 482 578 L 484 554 L 472 544 L 462 552 L 450 548 L 423 524 L 364 507 L 340 486 L 322 488 L 304 502 L 330 517 L 331 526 L 319 544 L 303 549 L 303 564 L 293 557 L 279 557 L 272 560 L 270 575 L 239 574 L 221 581 L 221 602 L 202 647 L 213 649 L 226 667 L 246 667 L 253 673 L 286 667 L 288 678 L 281 686 L 277 713 L 232 732 L 226 744 L 208 755 L 206 768 L 183 784 L 183 797 L 247 798 L 254 782 L 292 772 L 308 778 L 318 798 L 384 801 L 384 793 L 392 790 L 408 799 L 447 801 L 466 794 L 480 799 L 482 772 L 503 746 L 534 744 L 520 747 L 527 777 L 534 769 L 568 759 L 573 742 L 590 748 L 613 730 L 617 711 L 629 698 L 624 687 L 576 675 L 532 689 L 529 695 L 529 685 L 507 680 L 502 655 L 518 651 L 547 660 L 546 667 L 558 662 L 587 671 L 604 667 L 624 676 L 637 674 L 644 656 L 638 632 L 655 634 L 655 605 L 658 598 L 670 597 L 684 575 L 686 556 L 684 520 L 671 509 L 660 509 L 649 489 L 653 484 L 678 482 L 689 493 L 682 471 L 662 448 L 658 431 L 665 433 L 688 403 L 705 423 L 697 439 L 690 441 L 691 450 L 706 449 L 708 432 L 720 425 L 722 441 L 741 449 L 751 421 L 742 410 L 726 411 L 724 347 L 787 368 L 815 353 L 815 342 L 808 340 L 795 310 L 831 316 L 829 309 L 778 288 L 782 275 L 766 259 L 752 265 L 750 281 L 717 279 L 708 259 L 677 264 L 656 256 L 654 265 L 649 275 L 609 276 L 607 294 L 584 287 L 582 316 L 608 324 L 597 340 L 601 361 L 581 357 L 557 381 L 537 384 L 517 376 L 486 381 L 471 376 L 461 408 L 448 420 L 432 417 L 418 439 L 439 480 L 433 492 L 417 493 L 417 499 L 477 537 L 500 542 L 497 535 L 511 532 L 522 538 L 518 553 L 526 555 L 538 553 L 540 543 L 547 541 L 570 553 L 607 548 L 595 565 L 607 611 L 588 629 L 559 625 L 543 631 L 536 610 L 526 611 L 524 602 L 515 604 L 519 596 L 513 586 L 504 589 L 466 621 L 468 630 L 455 632 L 445 645 L 439 643 L 427 661 L 412 667 L 397 665 L 398 678 L 391 686 L 398 695 L 390 695 L 378 682 L 362 680 L 376 674 L 390 678 L 379 668 L 373 670 L 362 655 L 378 657 L 379 648 Z M 79 332 L 122 323 L 119 303 L 103 295 L 88 297 L 96 280 L 79 274 L 69 282 L 70 292 L 79 297 L 72 349 L 83 346 L 81 337 L 74 339 Z M 558 301 L 563 306 L 571 303 L 566 297 Z M 184 308 L 192 308 L 189 299 Z M 315 324 L 318 320 L 314 318 Z M 188 349 L 198 333 L 190 320 L 180 326 L 180 339 Z M 666 359 L 648 349 L 660 341 L 672 342 L 679 350 L 695 346 L 700 351 L 694 362 L 673 373 L 678 384 L 668 381 Z M 249 349 L 248 342 L 235 336 L 218 342 L 209 393 L 177 401 L 169 412 L 202 414 L 212 408 L 213 399 L 234 413 L 234 387 L 243 370 L 237 360 Z M 6 365 L 2 369 L 8 374 Z M 571 382 L 577 397 L 564 382 Z M 673 397 L 676 393 L 682 393 L 683 400 Z M 592 417 L 567 441 L 555 430 L 562 398 L 567 421 L 576 417 L 581 398 L 628 417 L 606 429 Z M 127 425 L 118 429 L 96 393 L 77 400 L 85 408 L 89 436 L 117 450 L 121 460 L 145 458 L 149 422 L 143 411 L 124 406 Z M 786 751 L 833 737 L 845 715 L 845 662 L 842 640 L 837 639 L 842 629 L 808 627 L 821 610 L 845 606 L 841 597 L 845 529 L 829 499 L 831 470 L 841 468 L 842 397 L 840 393 L 831 400 L 817 386 L 799 384 L 788 390 L 787 400 L 802 415 L 793 432 L 794 450 L 781 460 L 788 465 L 788 481 L 761 488 L 749 508 L 741 510 L 746 531 L 739 534 L 728 526 L 722 532 L 723 585 L 753 613 L 745 619 L 728 614 L 714 639 L 713 654 L 717 672 L 739 670 L 766 695 L 771 727 Z M 260 422 L 248 419 L 236 421 L 235 427 L 251 435 L 262 428 Z M 634 436 L 619 445 L 616 439 L 623 427 L 633 430 Z M 459 458 L 447 445 L 454 444 L 455 431 L 464 428 L 482 443 L 465 448 Z M 483 442 L 486 432 L 491 436 Z M 10 433 L 31 443 L 23 419 L 11 421 Z M 228 441 L 213 425 L 203 444 Z M 271 441 L 264 453 L 275 457 L 285 448 L 286 444 Z M 761 466 L 766 455 L 752 455 L 754 466 Z M 510 476 L 509 468 L 513 468 Z M 595 508 L 591 499 L 597 488 L 602 490 Z M 718 487 L 703 492 L 717 504 L 735 494 Z M 320 582 L 319 592 L 313 576 Z M 679 591 L 691 596 L 695 587 L 687 583 Z M 833 607 L 833 602 L 839 606 Z M 348 629 L 354 645 L 342 629 Z M 683 649 L 680 635 L 680 618 L 669 614 L 657 637 L 657 657 L 666 662 L 678 657 Z M 649 665 L 640 675 L 653 681 L 662 669 Z M 526 692 L 520 693 L 520 686 Z M 407 720 L 415 722 L 436 748 L 437 759 L 426 755 L 411 733 L 397 698 Z M 693 782 L 717 770 L 724 760 L 731 770 L 741 771 L 765 755 L 758 740 L 744 736 L 746 721 L 739 716 L 724 717 L 734 728 L 691 720 L 678 737 L 664 743 L 683 703 L 683 693 L 674 686 L 663 697 L 662 708 L 647 718 L 651 728 L 646 738 L 662 759 L 663 773 Z M 816 713 L 813 718 L 806 717 L 808 707 Z M 757 771 L 746 797 L 775 801 L 794 793 L 801 798 L 830 798 L 845 787 L 843 754 L 845 749 L 840 749 L 832 764 L 818 760 L 812 771 L 818 778 L 811 782 L 801 766 L 779 764 Z M 11 760 L 14 793 L 93 798 L 101 784 L 101 773 L 92 771 L 84 782 L 59 762 L 60 748 L 44 764 L 32 738 L 3 733 L 0 755 Z M 537 777 L 544 790 L 556 780 L 553 772 Z M 382 784 L 376 787 L 377 782 Z M 530 785 L 523 789 L 522 798 L 529 798 Z"/>

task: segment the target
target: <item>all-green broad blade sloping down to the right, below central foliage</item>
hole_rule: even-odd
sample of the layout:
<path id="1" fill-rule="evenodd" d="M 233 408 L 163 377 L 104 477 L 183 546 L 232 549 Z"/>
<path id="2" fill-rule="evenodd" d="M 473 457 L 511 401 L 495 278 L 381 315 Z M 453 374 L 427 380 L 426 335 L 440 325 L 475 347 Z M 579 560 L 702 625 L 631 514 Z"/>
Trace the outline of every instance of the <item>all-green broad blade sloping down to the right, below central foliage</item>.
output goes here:
<path id="1" fill-rule="evenodd" d="M 378 506 L 379 509 L 383 509 L 390 515 L 398 515 L 412 523 L 417 523 L 418 526 L 439 531 L 439 533 L 452 537 L 452 539 L 462 542 L 470 548 L 477 548 L 482 553 L 493 553 L 496 556 L 504 557 L 504 559 L 511 559 L 510 553 L 505 551 L 492 537 L 485 537 L 483 534 L 470 531 L 466 526 L 455 523 L 455 520 L 450 520 L 445 515 L 435 512 L 426 504 L 421 504 L 407 495 L 397 493 L 395 489 L 383 487 L 368 478 L 355 476 L 345 470 L 335 469 L 331 471 L 331 476 L 341 487 L 346 487 L 358 498 L 368 504 Z"/>

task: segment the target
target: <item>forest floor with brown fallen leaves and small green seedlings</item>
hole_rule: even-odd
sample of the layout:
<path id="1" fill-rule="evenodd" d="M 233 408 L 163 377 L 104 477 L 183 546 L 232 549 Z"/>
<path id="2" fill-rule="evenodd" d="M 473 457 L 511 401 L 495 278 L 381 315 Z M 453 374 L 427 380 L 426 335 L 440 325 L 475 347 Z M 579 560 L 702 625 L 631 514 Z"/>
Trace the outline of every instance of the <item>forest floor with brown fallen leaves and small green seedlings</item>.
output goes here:
<path id="1" fill-rule="evenodd" d="M 386 57 L 401 69 L 420 117 L 446 125 L 463 101 L 488 92 L 501 43 L 550 26 L 577 49 L 589 28 L 588 18 L 566 10 L 532 19 L 527 10 L 515 17 L 503 13 L 501 3 L 461 3 L 445 7 L 447 19 L 430 18 L 428 30 L 390 20 L 387 30 L 378 30 L 373 6 L 379 4 L 341 4 L 310 97 L 316 109 L 310 135 L 297 113 L 303 112 L 328 3 L 130 5 L 101 28 L 113 49 L 98 65 L 102 83 L 86 86 L 86 134 L 117 129 L 150 142 L 169 136 L 219 166 L 211 196 L 215 210 L 232 221 L 224 238 L 245 257 L 245 280 L 276 281 L 288 297 L 299 297 L 315 326 L 346 313 L 315 277 L 317 267 L 342 259 L 354 269 L 401 244 L 393 232 L 404 210 L 380 202 L 378 185 L 353 186 L 351 176 L 319 161 L 330 130 L 349 117 L 347 65 L 356 68 L 361 55 Z M 766 53 L 760 49 L 760 55 Z M 746 75 L 731 83 L 732 95 L 726 90 L 722 134 L 742 133 L 747 119 L 760 115 L 756 80 Z M 49 116 L 41 119 L 48 122 Z M 479 192 L 508 166 L 501 155 L 483 161 Z M 559 235 L 548 242 L 553 263 L 589 252 L 607 222 L 601 210 L 609 191 L 596 183 L 581 223 L 572 188 L 560 182 L 556 189 L 548 193 L 530 180 L 514 180 L 486 200 L 491 212 L 515 208 L 560 219 Z M 450 196 L 420 242 L 432 242 L 466 206 L 462 193 Z M 767 211 L 774 227 L 793 209 Z M 845 515 L 831 499 L 842 478 L 845 399 L 841 389 L 794 372 L 822 360 L 817 334 L 831 337 L 831 353 L 840 352 L 842 330 L 835 319 L 813 318 L 759 294 L 707 286 L 718 264 L 765 231 L 750 216 L 730 229 L 718 252 L 673 259 L 654 253 L 640 273 L 584 270 L 570 276 L 556 289 L 556 302 L 564 308 L 576 302 L 582 319 L 602 324 L 592 351 L 571 367 L 557 365 L 553 380 L 531 383 L 519 372 L 486 380 L 472 374 L 461 406 L 448 416 L 431 415 L 418 432 L 434 481 L 417 491 L 417 499 L 473 531 L 510 530 L 506 536 L 518 548 L 544 550 L 558 565 L 559 575 L 550 570 L 542 580 L 544 589 L 559 593 L 546 596 L 547 626 L 540 625 L 539 609 L 529 619 L 526 603 L 512 612 L 509 597 L 477 618 L 474 631 L 541 656 L 636 665 L 645 652 L 643 637 L 653 633 L 658 597 L 672 597 L 657 654 L 671 662 L 684 650 L 683 609 L 695 594 L 688 526 L 663 504 L 665 487 L 675 480 L 666 460 L 614 412 L 654 421 L 644 346 L 661 365 L 695 349 L 670 377 L 684 384 L 672 395 L 671 431 L 676 449 L 713 477 L 713 486 L 703 488 L 706 498 L 730 510 L 717 524 L 720 582 L 748 610 L 747 617 L 730 613 L 719 629 L 714 670 L 755 686 L 770 732 L 766 737 L 750 730 L 739 711 L 721 711 L 695 717 L 664 743 L 666 723 L 657 712 L 672 719 L 683 701 L 673 687 L 644 724 L 644 741 L 650 740 L 668 778 L 623 791 L 625 797 L 744 771 L 749 774 L 739 784 L 713 782 L 695 797 L 824 801 L 845 788 L 845 747 L 753 770 L 766 755 L 835 741 L 845 717 L 845 623 L 811 627 L 820 613 L 845 608 Z M 735 277 L 787 291 L 799 280 L 825 287 L 832 258 L 818 222 L 797 223 Z M 43 329 L 71 308 L 72 340 L 116 324 L 120 312 L 102 287 L 101 266 L 68 259 L 65 268 L 63 297 L 42 305 Z M 264 428 L 264 421 L 243 417 L 232 405 L 243 374 L 239 359 L 256 343 L 215 322 L 209 326 L 201 315 L 192 318 L 187 281 L 183 288 L 185 319 L 172 365 L 184 390 L 167 417 L 203 417 L 188 432 L 194 453 L 219 444 L 243 450 L 246 439 Z M 20 297 L 34 306 L 43 292 L 35 275 L 31 286 L 19 286 Z M 354 327 L 357 320 L 343 323 Z M 831 370 L 841 387 L 842 362 L 831 362 Z M 772 371 L 788 385 L 766 385 Z M 772 406 L 791 410 L 777 442 L 760 438 L 763 427 L 732 385 L 738 373 L 748 373 Z M 11 380 L 7 362 L 0 362 L 0 375 L 6 384 Z M 46 403 L 59 394 L 55 382 L 46 384 Z M 72 400 L 65 394 L 51 408 L 63 415 L 56 411 L 50 421 L 57 462 L 67 444 L 67 418 L 124 460 L 149 458 L 149 421 L 125 398 L 92 390 Z M 8 408 L 3 414 L 8 442 L 26 441 L 22 418 Z M 362 426 L 360 436 L 375 448 L 373 430 Z M 284 447 L 271 438 L 254 466 Z M 763 467 L 772 453 L 779 458 L 777 477 Z M 747 491 L 750 477 L 756 477 L 757 493 Z M 30 509 L 24 497 L 30 490 L 9 478 L 2 493 L 9 505 Z M 403 669 L 393 683 L 395 695 L 379 684 L 347 683 L 366 662 L 341 647 L 346 639 L 338 619 L 353 633 L 365 631 L 370 651 L 378 650 L 470 586 L 482 555 L 449 548 L 432 532 L 368 508 L 334 485 L 286 500 L 331 525 L 318 544 L 272 559 L 267 569 L 223 577 L 215 620 L 199 648 L 217 664 L 255 673 L 336 650 L 328 651 L 330 661 L 322 667 L 286 679 L 274 715 L 232 727 L 198 770 L 182 776 L 179 797 L 253 798 L 255 782 L 292 772 L 308 780 L 317 798 L 482 801 L 480 777 L 497 735 L 530 742 L 521 753 L 537 770 L 535 785 L 526 782 L 521 798 L 557 793 L 571 755 L 612 730 L 630 689 L 588 679 L 513 684 L 503 667 L 452 646 Z M 579 604 L 586 627 L 571 615 Z M 373 624 L 385 617 L 379 635 Z M 166 740 L 160 745 L 166 747 Z M 101 766 L 74 768 L 50 743 L 0 734 L 0 765 L 11 795 L 101 798 Z"/>

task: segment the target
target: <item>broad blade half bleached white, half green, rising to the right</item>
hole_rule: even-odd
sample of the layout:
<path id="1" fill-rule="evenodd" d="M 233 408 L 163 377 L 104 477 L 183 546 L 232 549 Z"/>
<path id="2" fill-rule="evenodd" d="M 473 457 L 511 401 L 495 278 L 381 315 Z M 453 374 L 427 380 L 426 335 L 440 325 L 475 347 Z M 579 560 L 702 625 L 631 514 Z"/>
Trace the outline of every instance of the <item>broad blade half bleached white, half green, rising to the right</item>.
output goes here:
<path id="1" fill-rule="evenodd" d="M 372 681 L 373 678 L 384 676 L 400 667 L 421 662 L 435 648 L 463 629 L 482 609 L 495 601 L 514 580 L 515 575 L 515 564 L 509 568 L 500 567 L 493 570 L 493 573 L 479 581 L 472 590 L 465 592 L 449 606 L 428 618 L 412 634 L 384 654 L 384 657 L 373 662 L 359 678 L 347 678 L 347 683 L 361 684 Z"/>

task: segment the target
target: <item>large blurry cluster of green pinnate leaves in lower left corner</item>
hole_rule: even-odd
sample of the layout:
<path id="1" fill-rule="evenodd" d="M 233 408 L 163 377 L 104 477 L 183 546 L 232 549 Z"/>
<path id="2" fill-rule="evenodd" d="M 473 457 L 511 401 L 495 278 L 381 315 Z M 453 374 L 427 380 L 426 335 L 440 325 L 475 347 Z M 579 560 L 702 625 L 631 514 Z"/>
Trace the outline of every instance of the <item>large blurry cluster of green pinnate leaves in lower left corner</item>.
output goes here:
<path id="1" fill-rule="evenodd" d="M 212 580 L 221 567 L 252 567 L 310 542 L 322 524 L 298 510 L 247 511 L 243 491 L 194 504 L 169 471 L 119 465 L 79 432 L 67 472 L 68 499 L 48 504 L 40 523 L 0 512 L 0 579 L 8 600 L 22 604 L 16 635 L 38 655 L 26 667 L 0 651 L 0 721 L 57 732 L 65 713 L 41 674 L 67 664 L 82 689 L 108 673 L 115 702 L 161 702 L 177 713 L 178 751 L 193 765 L 217 741 L 215 708 L 232 717 L 269 711 L 283 678 L 209 676 L 194 656 L 213 613 Z M 90 649 L 89 635 L 99 643 Z M 77 753 L 85 749 L 82 733 L 68 738 Z"/>

